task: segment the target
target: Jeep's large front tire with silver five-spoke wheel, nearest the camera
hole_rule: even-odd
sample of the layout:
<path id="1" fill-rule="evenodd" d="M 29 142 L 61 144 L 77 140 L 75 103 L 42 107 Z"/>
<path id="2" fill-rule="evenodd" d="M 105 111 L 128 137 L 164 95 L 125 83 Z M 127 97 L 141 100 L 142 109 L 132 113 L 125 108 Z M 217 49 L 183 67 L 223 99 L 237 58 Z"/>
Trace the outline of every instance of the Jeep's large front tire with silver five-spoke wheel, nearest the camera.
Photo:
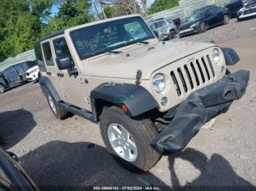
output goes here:
<path id="1" fill-rule="evenodd" d="M 133 120 L 112 106 L 103 112 L 99 127 L 108 151 L 127 170 L 148 171 L 159 160 L 160 155 L 149 145 L 157 135 L 151 120 Z"/>

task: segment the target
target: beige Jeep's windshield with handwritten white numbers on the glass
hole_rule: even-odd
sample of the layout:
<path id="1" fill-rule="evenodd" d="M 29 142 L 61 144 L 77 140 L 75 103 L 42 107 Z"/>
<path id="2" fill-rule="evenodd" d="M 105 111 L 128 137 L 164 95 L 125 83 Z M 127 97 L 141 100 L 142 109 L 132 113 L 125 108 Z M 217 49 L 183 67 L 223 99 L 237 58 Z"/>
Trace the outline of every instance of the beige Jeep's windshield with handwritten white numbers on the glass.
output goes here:
<path id="1" fill-rule="evenodd" d="M 87 26 L 70 32 L 80 59 L 154 38 L 141 17 Z"/>

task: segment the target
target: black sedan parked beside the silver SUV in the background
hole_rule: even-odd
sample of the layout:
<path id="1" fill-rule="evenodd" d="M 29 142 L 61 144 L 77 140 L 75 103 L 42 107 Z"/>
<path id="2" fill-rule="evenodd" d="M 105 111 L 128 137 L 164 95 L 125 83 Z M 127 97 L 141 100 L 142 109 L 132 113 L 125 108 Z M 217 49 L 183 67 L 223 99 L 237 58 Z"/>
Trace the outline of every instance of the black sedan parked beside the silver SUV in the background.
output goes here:
<path id="1" fill-rule="evenodd" d="M 195 12 L 179 26 L 179 36 L 203 33 L 208 28 L 229 23 L 228 9 L 208 5 Z"/>

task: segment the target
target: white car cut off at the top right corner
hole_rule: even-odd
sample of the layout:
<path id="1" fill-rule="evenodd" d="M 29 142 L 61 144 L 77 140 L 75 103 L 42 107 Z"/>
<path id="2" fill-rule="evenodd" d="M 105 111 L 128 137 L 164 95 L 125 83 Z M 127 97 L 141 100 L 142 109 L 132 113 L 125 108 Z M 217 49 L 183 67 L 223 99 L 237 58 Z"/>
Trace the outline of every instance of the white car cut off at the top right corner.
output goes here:
<path id="1" fill-rule="evenodd" d="M 256 0 L 249 0 L 243 8 L 237 12 L 237 19 L 243 20 L 248 17 L 256 17 Z"/>

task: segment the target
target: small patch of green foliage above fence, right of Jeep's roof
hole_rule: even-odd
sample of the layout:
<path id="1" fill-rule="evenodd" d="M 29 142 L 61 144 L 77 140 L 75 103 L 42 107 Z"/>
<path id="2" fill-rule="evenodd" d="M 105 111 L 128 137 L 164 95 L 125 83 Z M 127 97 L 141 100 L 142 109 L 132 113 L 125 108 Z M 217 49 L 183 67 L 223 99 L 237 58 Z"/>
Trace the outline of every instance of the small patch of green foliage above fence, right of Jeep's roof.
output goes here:
<path id="1" fill-rule="evenodd" d="M 178 6 L 178 0 L 156 0 L 153 4 L 151 4 L 151 7 L 149 7 L 148 13 L 154 14 L 155 12 L 163 11 L 176 6 Z"/>

